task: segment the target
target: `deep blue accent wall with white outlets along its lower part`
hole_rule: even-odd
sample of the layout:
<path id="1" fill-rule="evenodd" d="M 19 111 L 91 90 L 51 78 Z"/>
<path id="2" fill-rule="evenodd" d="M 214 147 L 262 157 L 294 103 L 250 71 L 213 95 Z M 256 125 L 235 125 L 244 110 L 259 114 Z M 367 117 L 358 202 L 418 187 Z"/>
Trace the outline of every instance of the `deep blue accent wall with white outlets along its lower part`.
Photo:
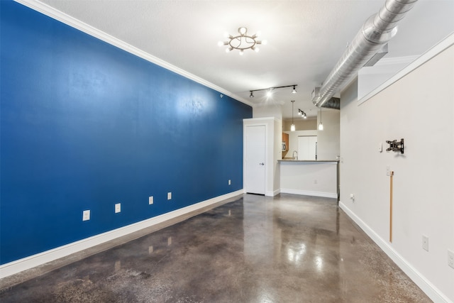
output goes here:
<path id="1" fill-rule="evenodd" d="M 21 4 L 0 9 L 0 263 L 243 188 L 250 106 Z"/>

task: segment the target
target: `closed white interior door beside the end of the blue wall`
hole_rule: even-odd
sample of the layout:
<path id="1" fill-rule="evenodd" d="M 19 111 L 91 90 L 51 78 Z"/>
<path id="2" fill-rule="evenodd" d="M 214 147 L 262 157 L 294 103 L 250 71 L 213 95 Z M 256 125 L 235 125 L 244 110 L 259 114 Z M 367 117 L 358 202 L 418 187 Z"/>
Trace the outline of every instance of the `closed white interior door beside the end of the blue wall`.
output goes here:
<path id="1" fill-rule="evenodd" d="M 265 126 L 246 126 L 245 190 L 265 194 Z"/>

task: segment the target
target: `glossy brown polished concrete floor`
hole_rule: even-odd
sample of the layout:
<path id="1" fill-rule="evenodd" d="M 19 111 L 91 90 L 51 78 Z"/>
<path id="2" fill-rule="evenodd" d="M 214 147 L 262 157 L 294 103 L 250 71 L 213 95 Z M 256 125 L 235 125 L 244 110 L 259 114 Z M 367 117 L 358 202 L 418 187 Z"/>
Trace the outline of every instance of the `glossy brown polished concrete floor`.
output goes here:
<path id="1" fill-rule="evenodd" d="M 431 302 L 336 200 L 246 194 L 17 285 L 6 302 Z"/>

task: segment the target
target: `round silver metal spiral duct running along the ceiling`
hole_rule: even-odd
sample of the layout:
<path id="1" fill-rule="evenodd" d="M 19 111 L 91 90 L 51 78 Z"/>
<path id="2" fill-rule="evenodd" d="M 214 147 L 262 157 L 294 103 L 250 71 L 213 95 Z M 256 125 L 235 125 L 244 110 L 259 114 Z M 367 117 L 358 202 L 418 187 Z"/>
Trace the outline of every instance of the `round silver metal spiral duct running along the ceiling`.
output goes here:
<path id="1" fill-rule="evenodd" d="M 416 1 L 418 0 L 386 0 L 382 9 L 365 21 L 323 85 L 314 89 L 312 103 L 318 107 L 336 108 L 330 104 L 333 102 L 328 101 L 396 35 L 397 23 L 413 8 Z"/>

